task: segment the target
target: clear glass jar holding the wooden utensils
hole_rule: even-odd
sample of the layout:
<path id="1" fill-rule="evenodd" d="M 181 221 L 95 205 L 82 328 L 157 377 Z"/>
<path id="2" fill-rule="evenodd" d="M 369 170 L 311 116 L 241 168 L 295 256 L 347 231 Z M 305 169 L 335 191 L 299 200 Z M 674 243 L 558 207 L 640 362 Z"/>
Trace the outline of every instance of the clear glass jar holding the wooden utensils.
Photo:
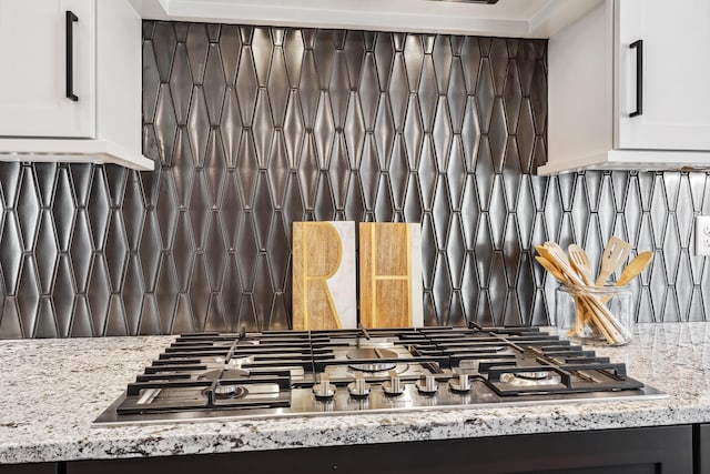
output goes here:
<path id="1" fill-rule="evenodd" d="M 633 332 L 631 290 L 560 285 L 555 292 L 555 320 L 560 337 L 590 345 L 626 345 Z"/>

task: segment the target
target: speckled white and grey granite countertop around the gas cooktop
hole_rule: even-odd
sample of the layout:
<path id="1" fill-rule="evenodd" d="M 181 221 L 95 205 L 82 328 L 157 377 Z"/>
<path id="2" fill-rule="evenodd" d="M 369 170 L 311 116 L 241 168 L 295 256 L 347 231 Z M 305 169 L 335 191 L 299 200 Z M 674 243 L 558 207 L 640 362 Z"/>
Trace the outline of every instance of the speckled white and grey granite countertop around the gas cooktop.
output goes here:
<path id="1" fill-rule="evenodd" d="M 225 453 L 710 422 L 710 323 L 596 349 L 670 396 L 635 402 L 94 427 L 174 336 L 0 341 L 0 463 Z"/>

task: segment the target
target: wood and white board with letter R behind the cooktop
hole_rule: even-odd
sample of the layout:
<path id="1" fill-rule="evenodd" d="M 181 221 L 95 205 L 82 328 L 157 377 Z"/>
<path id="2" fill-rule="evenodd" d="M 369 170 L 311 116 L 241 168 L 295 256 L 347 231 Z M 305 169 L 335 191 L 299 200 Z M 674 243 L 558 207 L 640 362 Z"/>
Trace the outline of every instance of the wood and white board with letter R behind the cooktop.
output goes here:
<path id="1" fill-rule="evenodd" d="M 357 327 L 354 222 L 293 223 L 293 329 Z"/>

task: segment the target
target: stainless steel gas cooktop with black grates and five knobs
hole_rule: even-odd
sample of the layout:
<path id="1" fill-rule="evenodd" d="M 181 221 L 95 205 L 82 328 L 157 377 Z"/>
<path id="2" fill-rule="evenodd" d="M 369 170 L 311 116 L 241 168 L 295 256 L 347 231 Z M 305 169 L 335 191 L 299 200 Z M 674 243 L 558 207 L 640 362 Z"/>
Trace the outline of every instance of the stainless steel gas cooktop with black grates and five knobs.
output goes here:
<path id="1" fill-rule="evenodd" d="M 537 327 L 195 333 L 95 424 L 660 397 L 623 364 Z"/>

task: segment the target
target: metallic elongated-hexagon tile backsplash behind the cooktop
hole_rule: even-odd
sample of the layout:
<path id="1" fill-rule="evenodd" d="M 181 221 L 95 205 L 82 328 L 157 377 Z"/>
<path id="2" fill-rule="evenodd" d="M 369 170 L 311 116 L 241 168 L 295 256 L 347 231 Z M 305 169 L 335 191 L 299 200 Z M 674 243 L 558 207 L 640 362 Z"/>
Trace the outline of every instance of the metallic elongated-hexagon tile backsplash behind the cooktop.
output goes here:
<path id="1" fill-rule="evenodd" d="M 420 222 L 427 325 L 547 324 L 532 245 L 611 235 L 657 251 L 639 322 L 707 320 L 708 174 L 536 177 L 546 48 L 145 21 L 160 165 L 0 163 L 0 337 L 287 329 L 300 220 Z"/>

